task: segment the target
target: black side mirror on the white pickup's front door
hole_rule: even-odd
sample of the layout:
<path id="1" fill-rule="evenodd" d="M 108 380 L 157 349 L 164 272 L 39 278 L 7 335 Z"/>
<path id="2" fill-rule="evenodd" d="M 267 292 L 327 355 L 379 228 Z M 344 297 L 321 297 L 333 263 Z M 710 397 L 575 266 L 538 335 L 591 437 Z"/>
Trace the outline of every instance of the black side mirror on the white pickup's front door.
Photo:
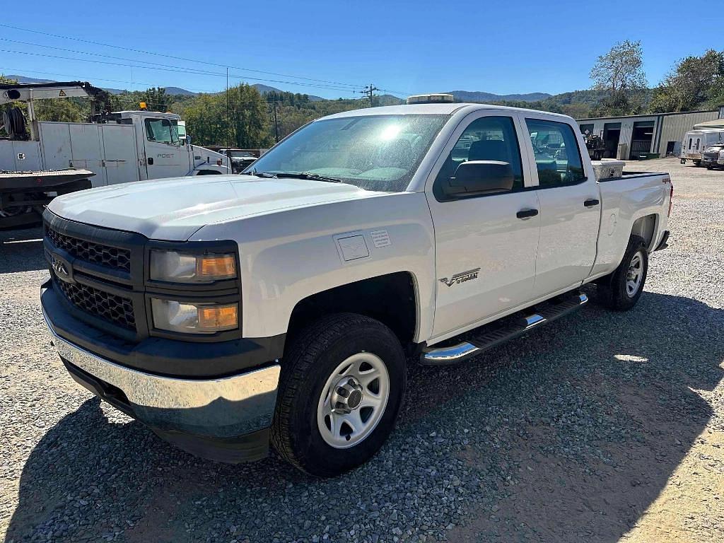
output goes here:
<path id="1" fill-rule="evenodd" d="M 463 162 L 455 170 L 455 177 L 445 183 L 445 195 L 450 198 L 508 192 L 513 189 L 513 168 L 510 163 L 497 160 Z"/>

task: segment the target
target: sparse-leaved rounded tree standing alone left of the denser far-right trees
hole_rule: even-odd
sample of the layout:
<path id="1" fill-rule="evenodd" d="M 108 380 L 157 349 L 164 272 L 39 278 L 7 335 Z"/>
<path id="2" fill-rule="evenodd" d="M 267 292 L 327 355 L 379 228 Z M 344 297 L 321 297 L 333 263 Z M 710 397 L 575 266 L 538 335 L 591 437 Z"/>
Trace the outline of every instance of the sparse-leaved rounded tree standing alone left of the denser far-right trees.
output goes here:
<path id="1" fill-rule="evenodd" d="M 641 41 L 621 41 L 598 57 L 591 70 L 593 89 L 606 96 L 595 109 L 596 114 L 626 115 L 638 113 L 647 89 L 644 75 L 644 51 Z"/>

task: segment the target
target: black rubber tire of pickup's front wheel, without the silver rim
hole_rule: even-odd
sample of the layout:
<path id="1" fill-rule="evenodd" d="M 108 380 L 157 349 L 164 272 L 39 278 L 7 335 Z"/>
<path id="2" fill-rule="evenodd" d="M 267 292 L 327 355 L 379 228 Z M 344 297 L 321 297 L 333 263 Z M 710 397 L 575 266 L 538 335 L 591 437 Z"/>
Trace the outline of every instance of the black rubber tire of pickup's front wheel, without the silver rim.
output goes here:
<path id="1" fill-rule="evenodd" d="M 322 389 L 334 369 L 356 353 L 372 353 L 384 361 L 390 376 L 387 405 L 374 430 L 349 448 L 335 448 L 321 435 L 317 408 Z M 271 443 L 293 466 L 313 476 L 335 476 L 371 458 L 392 432 L 405 395 L 405 355 L 392 330 L 355 313 L 319 319 L 293 340 L 285 353 Z"/>

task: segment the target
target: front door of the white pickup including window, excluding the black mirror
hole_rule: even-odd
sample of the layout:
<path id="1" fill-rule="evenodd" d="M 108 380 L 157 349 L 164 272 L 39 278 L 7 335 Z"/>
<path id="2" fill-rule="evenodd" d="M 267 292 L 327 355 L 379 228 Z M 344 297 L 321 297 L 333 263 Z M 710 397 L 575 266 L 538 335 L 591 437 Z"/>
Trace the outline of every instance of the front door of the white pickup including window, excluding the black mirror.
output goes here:
<path id="1" fill-rule="evenodd" d="M 468 116 L 437 162 L 427 198 L 435 229 L 437 291 L 433 336 L 472 328 L 531 299 L 540 217 L 536 191 L 525 190 L 517 119 L 498 112 Z M 504 161 L 509 191 L 450 198 L 442 190 L 464 161 Z"/>

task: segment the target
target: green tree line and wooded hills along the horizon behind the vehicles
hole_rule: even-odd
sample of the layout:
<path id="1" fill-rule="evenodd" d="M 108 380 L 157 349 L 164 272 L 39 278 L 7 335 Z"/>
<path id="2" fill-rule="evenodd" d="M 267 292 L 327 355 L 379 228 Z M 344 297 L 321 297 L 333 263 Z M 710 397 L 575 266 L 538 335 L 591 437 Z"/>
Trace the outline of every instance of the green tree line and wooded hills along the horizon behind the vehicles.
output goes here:
<path id="1" fill-rule="evenodd" d="M 615 43 L 598 57 L 590 77 L 592 88 L 557 94 L 536 102 L 500 101 L 495 104 L 542 109 L 584 117 L 663 113 L 715 109 L 724 105 L 724 51 L 710 49 L 701 56 L 687 56 L 673 64 L 663 80 L 649 87 L 644 75 L 640 41 Z M 0 75 L 0 83 L 14 83 Z M 325 115 L 369 106 L 401 104 L 394 96 L 313 99 L 306 94 L 271 91 L 261 93 L 242 83 L 220 93 L 169 94 L 164 88 L 103 93 L 95 111 L 138 109 L 171 111 L 185 119 L 193 143 L 201 146 L 265 148 L 298 127 Z M 25 109 L 24 104 L 17 104 Z M 38 100 L 40 120 L 84 122 L 90 119 L 90 101 L 83 98 Z M 0 135 L 2 130 L 0 128 Z"/>

